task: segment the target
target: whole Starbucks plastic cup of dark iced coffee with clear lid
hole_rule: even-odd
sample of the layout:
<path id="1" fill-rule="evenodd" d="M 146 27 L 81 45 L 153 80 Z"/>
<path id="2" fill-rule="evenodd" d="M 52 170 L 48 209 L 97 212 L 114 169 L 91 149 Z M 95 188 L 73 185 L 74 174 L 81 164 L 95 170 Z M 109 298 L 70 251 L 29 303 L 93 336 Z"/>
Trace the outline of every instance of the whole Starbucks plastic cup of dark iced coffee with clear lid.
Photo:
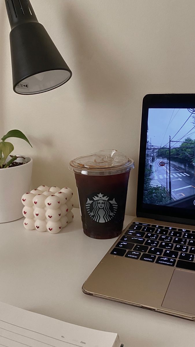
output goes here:
<path id="1" fill-rule="evenodd" d="M 109 239 L 121 234 L 133 168 L 134 161 L 116 150 L 101 150 L 70 161 L 87 236 Z"/>

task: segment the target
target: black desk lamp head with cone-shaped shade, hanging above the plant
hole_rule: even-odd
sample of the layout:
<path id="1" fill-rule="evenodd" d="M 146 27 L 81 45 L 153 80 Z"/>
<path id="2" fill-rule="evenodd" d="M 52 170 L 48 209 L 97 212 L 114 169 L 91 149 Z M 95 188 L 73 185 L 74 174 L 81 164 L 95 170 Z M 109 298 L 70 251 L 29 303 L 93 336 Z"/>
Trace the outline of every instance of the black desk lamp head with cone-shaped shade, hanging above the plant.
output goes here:
<path id="1" fill-rule="evenodd" d="M 13 89 L 37 94 L 57 88 L 72 76 L 50 36 L 36 18 L 29 0 L 5 0 L 11 26 Z"/>

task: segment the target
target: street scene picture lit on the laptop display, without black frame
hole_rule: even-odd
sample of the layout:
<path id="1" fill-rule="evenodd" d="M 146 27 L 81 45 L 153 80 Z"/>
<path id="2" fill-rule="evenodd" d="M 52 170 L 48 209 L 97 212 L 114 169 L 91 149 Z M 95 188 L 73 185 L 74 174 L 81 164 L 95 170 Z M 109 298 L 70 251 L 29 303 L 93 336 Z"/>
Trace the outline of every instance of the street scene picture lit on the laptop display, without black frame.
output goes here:
<path id="1" fill-rule="evenodd" d="M 143 202 L 195 208 L 195 109 L 150 108 Z"/>

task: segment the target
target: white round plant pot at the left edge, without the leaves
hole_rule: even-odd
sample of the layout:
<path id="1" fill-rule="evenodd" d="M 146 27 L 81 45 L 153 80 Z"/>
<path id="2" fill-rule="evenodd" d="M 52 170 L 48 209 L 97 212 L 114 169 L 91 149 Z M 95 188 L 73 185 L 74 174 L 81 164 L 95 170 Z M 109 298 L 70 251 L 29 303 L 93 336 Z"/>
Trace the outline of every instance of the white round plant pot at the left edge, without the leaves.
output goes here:
<path id="1" fill-rule="evenodd" d="M 33 160 L 26 156 L 23 161 L 23 165 L 0 169 L 0 223 L 23 217 L 21 197 L 30 188 Z"/>

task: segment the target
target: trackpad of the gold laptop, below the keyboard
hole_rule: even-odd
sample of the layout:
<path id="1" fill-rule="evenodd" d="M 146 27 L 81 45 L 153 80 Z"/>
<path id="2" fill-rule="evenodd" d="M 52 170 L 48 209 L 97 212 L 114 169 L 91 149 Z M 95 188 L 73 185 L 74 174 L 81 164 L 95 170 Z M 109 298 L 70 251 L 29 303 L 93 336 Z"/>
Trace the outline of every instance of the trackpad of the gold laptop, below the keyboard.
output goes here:
<path id="1" fill-rule="evenodd" d="M 195 315 L 195 272 L 174 270 L 162 307 Z"/>

